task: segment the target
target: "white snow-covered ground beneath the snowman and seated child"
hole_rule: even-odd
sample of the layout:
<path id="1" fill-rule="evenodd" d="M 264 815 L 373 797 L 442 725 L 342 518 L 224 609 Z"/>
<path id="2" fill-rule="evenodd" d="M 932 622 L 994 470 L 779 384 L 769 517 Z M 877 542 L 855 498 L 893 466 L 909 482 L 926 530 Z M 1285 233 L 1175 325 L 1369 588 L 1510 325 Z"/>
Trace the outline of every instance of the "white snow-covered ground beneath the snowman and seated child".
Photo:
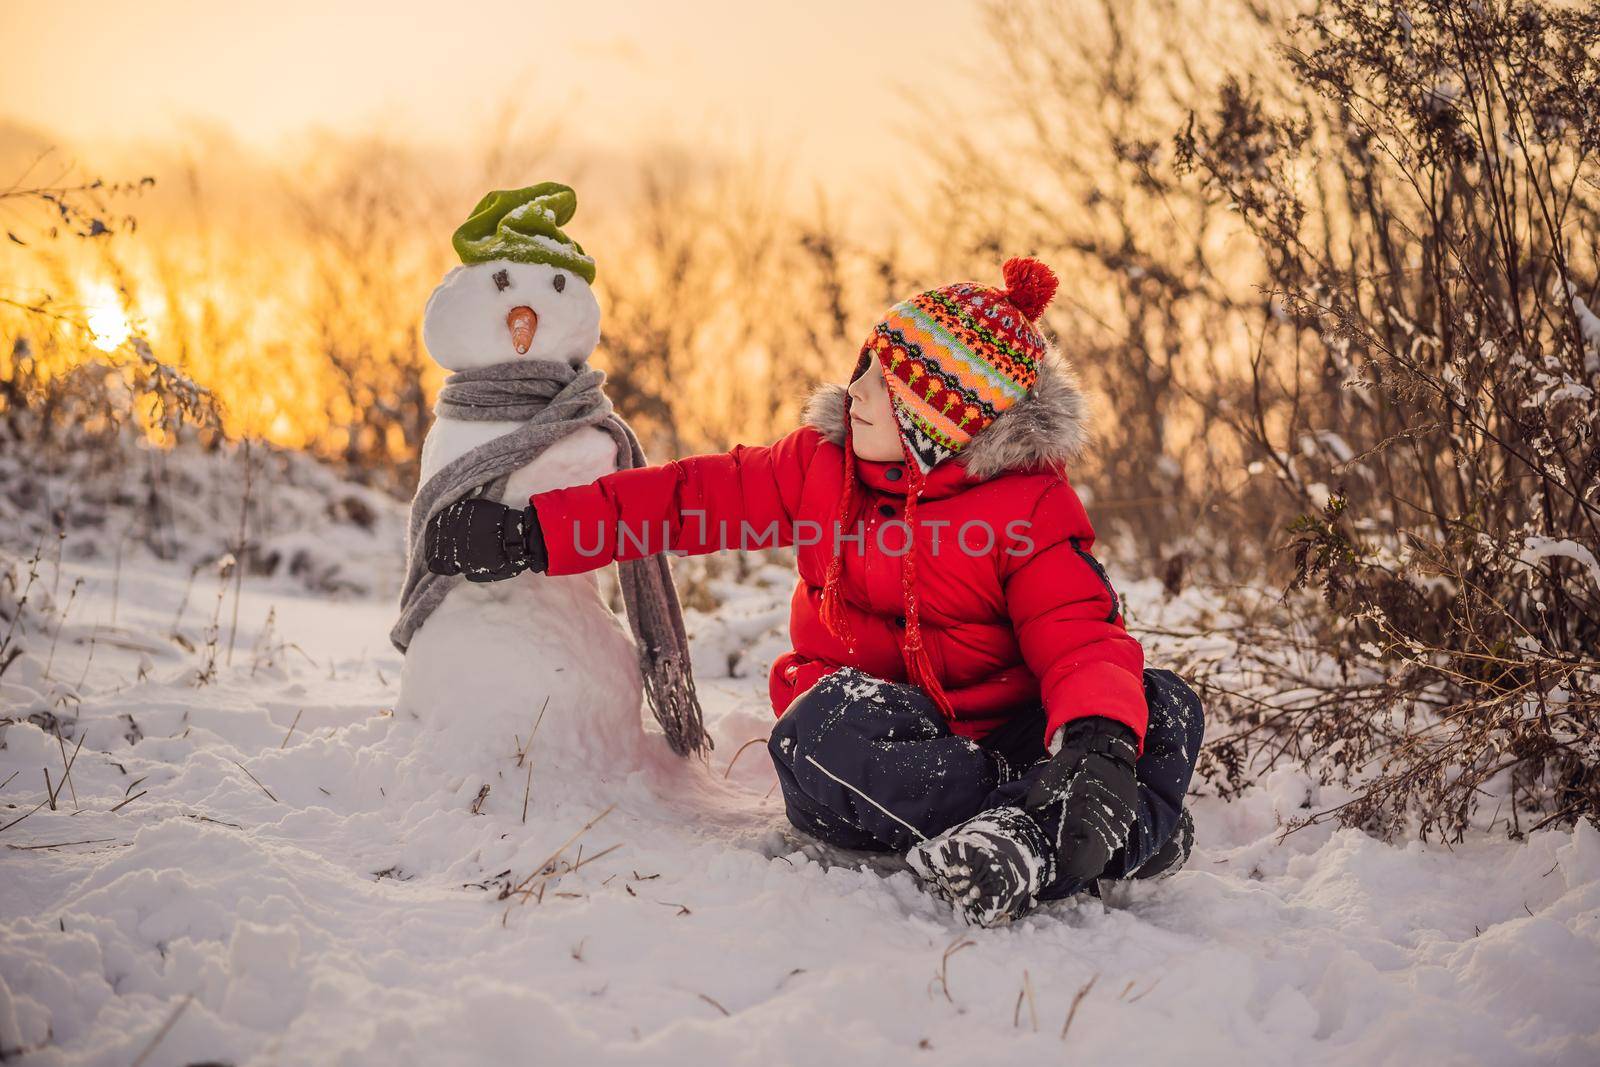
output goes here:
<path id="1" fill-rule="evenodd" d="M 904 870 L 790 838 L 762 745 L 728 769 L 770 726 L 776 568 L 693 619 L 709 765 L 547 753 L 531 779 L 538 734 L 462 771 L 390 713 L 387 595 L 250 577 L 229 662 L 216 571 L 69 555 L 38 585 L 59 609 L 77 577 L 54 646 L 0 677 L 5 717 L 67 736 L 0 726 L 0 1059 L 1600 1062 L 1590 825 L 1285 837 L 1314 787 L 1278 771 L 1195 801 L 1182 873 L 966 929 Z M 1136 621 L 1182 609 L 1123 592 Z"/>

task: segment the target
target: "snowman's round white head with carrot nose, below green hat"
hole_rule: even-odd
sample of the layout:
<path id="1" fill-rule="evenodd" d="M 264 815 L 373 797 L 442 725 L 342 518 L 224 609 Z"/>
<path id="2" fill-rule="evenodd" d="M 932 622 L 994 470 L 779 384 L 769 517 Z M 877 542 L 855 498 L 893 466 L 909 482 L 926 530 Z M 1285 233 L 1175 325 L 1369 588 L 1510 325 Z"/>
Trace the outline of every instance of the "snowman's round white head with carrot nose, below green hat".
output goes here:
<path id="1" fill-rule="evenodd" d="M 600 342 L 600 302 L 570 269 L 490 259 L 445 275 L 422 312 L 422 344 L 448 371 L 510 360 L 582 363 Z"/>

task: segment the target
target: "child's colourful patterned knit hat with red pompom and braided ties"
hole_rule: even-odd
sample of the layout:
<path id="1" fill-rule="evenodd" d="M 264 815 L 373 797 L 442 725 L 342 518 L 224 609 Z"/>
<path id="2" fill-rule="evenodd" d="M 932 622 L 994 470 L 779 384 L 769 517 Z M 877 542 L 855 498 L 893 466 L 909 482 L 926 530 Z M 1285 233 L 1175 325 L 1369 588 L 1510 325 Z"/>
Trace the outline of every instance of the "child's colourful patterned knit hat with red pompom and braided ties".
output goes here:
<path id="1" fill-rule="evenodd" d="M 950 459 L 1011 405 L 1032 392 L 1046 341 L 1035 322 L 1056 294 L 1054 272 L 1037 259 L 1008 259 L 1002 267 L 1005 288 L 958 282 L 928 290 L 891 307 L 872 328 L 854 381 L 870 360 L 883 368 L 890 406 L 906 453 L 906 525 L 917 528 L 917 498 L 926 474 Z M 840 526 L 856 510 L 854 450 L 850 442 L 850 398 L 845 398 L 845 493 Z M 915 545 L 915 537 L 910 539 Z M 835 545 L 837 547 L 837 545 Z M 917 611 L 915 547 L 901 561 L 901 593 L 906 603 L 906 673 L 950 715 L 950 702 L 933 673 L 922 645 Z M 822 622 L 851 645 L 845 617 L 838 552 L 822 584 Z"/>

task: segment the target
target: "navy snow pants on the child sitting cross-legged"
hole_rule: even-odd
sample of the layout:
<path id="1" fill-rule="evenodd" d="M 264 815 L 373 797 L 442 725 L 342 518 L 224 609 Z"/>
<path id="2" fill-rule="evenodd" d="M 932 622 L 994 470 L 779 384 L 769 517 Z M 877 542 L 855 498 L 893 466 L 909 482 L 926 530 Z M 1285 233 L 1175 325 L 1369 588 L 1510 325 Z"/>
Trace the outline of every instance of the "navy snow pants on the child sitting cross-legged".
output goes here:
<path id="1" fill-rule="evenodd" d="M 1139 805 L 1125 849 L 1102 878 L 1126 878 L 1178 829 L 1200 757 L 1200 697 L 1171 670 L 1144 672 L 1150 725 L 1134 765 Z M 853 667 L 795 697 L 766 742 L 789 821 L 838 848 L 904 853 L 979 811 L 1019 805 L 1050 761 L 1045 709 L 1016 715 L 982 741 L 952 734 L 914 685 Z M 1088 886 L 1056 883 L 1042 899 Z"/>

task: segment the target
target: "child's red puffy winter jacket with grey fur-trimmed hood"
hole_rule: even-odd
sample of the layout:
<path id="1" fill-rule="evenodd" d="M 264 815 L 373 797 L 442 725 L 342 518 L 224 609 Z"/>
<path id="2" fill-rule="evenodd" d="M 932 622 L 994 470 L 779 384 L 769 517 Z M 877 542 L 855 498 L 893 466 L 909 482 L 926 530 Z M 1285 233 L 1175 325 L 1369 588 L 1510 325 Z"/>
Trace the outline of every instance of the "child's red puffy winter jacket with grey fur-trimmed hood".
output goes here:
<path id="1" fill-rule="evenodd" d="M 864 536 L 842 541 L 854 651 L 818 616 L 843 491 L 843 387 L 822 386 L 806 424 L 770 446 L 739 445 L 534 494 L 549 573 L 576 574 L 666 549 L 797 545 L 794 649 L 773 664 L 773 710 L 782 715 L 843 665 L 904 681 L 907 528 L 896 525 L 904 464 L 856 461 Z M 1083 408 L 1070 371 L 1050 360 L 1029 397 L 926 475 L 915 573 L 923 643 L 954 710 L 950 728 L 966 737 L 1043 701 L 1046 744 L 1064 723 L 1104 715 L 1128 725 L 1142 745 L 1144 651 L 1123 629 L 1117 593 L 1090 555 L 1088 515 L 1058 474 L 1083 443 Z"/>

